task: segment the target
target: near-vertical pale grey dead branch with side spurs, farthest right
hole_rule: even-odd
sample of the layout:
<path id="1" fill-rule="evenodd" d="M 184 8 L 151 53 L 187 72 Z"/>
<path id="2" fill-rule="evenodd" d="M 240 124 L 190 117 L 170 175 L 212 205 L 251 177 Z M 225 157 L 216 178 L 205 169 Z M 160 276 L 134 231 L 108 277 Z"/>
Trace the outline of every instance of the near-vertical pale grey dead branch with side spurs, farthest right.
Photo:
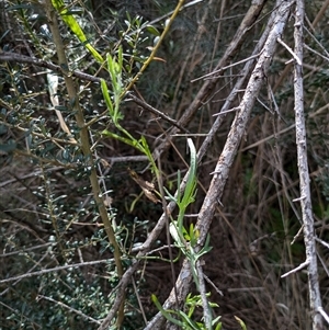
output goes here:
<path id="1" fill-rule="evenodd" d="M 295 54 L 303 61 L 303 25 L 304 25 L 305 8 L 304 1 L 296 1 L 295 13 Z M 294 70 L 294 99 L 295 99 L 295 123 L 296 123 L 296 145 L 299 172 L 299 190 L 300 190 L 300 208 L 304 224 L 304 241 L 306 249 L 306 262 L 308 268 L 308 292 L 309 305 L 313 317 L 313 329 L 324 329 L 322 317 L 319 314 L 321 308 L 321 296 L 319 289 L 317 252 L 315 241 L 315 228 L 311 210 L 311 197 L 309 189 L 309 173 L 307 163 L 307 144 L 306 144 L 306 127 L 304 114 L 304 83 L 303 83 L 303 67 L 297 61 Z"/>

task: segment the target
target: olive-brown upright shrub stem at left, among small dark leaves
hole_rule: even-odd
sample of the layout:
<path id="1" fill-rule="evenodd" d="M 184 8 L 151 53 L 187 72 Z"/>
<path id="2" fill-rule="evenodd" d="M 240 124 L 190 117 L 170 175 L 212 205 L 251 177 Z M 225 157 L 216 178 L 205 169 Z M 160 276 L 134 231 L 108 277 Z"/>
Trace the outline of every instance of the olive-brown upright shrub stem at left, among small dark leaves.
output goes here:
<path id="1" fill-rule="evenodd" d="M 107 210 L 104 205 L 104 201 L 102 198 L 102 191 L 101 191 L 101 187 L 100 187 L 100 184 L 98 181 L 98 173 L 97 173 L 97 170 L 95 170 L 95 167 L 93 163 L 92 153 L 91 153 L 91 146 L 90 146 L 90 141 L 89 141 L 89 132 L 88 132 L 88 127 L 84 126 L 86 123 L 84 123 L 83 112 L 79 104 L 79 95 L 76 90 L 75 81 L 68 72 L 69 66 L 68 66 L 67 57 L 65 54 L 65 47 L 63 45 L 63 39 L 61 39 L 60 33 L 59 33 L 59 26 L 58 26 L 56 13 L 55 13 L 55 10 L 53 8 L 50 0 L 46 0 L 44 2 L 44 5 L 45 5 L 46 15 L 48 19 L 49 29 L 52 31 L 54 43 L 56 45 L 58 62 L 60 65 L 61 71 L 63 71 L 68 96 L 71 101 L 75 101 L 73 113 L 76 114 L 77 125 L 80 128 L 81 149 L 82 149 L 84 157 L 87 159 L 89 159 L 89 163 L 91 167 L 90 183 L 92 186 L 95 205 L 99 208 L 100 216 L 104 224 L 104 229 L 107 235 L 107 238 L 114 248 L 114 259 L 115 259 L 115 264 L 117 268 L 117 274 L 120 277 L 122 277 L 123 265 L 121 262 L 121 250 L 116 242 L 115 235 L 114 235 L 114 231 L 113 231 L 113 228 L 111 225 L 111 220 L 109 218 Z M 122 301 L 121 301 L 121 307 L 120 307 L 118 315 L 117 315 L 117 326 L 118 327 L 121 326 L 121 323 L 123 321 L 123 317 L 124 317 L 124 296 L 122 296 L 121 298 L 122 298 Z"/>

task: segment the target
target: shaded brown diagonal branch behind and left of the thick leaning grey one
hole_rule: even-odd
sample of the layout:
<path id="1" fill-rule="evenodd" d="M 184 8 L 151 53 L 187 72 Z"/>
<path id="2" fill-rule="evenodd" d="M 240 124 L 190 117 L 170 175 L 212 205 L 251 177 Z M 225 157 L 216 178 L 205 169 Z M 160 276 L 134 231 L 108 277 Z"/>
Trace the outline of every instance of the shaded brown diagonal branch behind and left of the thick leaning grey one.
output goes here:
<path id="1" fill-rule="evenodd" d="M 231 58 L 234 58 L 236 56 L 236 54 L 240 49 L 241 44 L 243 43 L 245 38 L 247 37 L 247 32 L 252 27 L 252 25 L 257 21 L 265 2 L 266 2 L 265 0 L 258 0 L 258 1 L 252 2 L 251 7 L 249 8 L 246 16 L 243 18 L 243 20 L 240 24 L 236 35 L 234 36 L 231 43 L 229 44 L 229 46 L 227 47 L 222 59 L 219 60 L 216 68 L 214 69 L 215 71 L 218 72 L 220 69 L 223 69 L 223 67 L 228 65 L 228 62 Z M 190 104 L 190 106 L 186 109 L 186 111 L 184 112 L 182 117 L 179 120 L 178 124 L 180 126 L 185 127 L 190 123 L 190 121 L 192 120 L 192 117 L 194 116 L 196 111 L 208 100 L 209 95 L 213 93 L 218 79 L 219 79 L 219 77 L 217 77 L 217 79 L 209 79 L 204 82 L 204 84 L 197 92 L 193 102 Z M 177 127 L 173 127 L 169 132 L 166 140 L 162 141 L 157 147 L 155 156 L 161 155 L 170 146 L 170 140 L 172 139 L 172 135 L 177 134 L 178 130 L 179 129 Z"/>

